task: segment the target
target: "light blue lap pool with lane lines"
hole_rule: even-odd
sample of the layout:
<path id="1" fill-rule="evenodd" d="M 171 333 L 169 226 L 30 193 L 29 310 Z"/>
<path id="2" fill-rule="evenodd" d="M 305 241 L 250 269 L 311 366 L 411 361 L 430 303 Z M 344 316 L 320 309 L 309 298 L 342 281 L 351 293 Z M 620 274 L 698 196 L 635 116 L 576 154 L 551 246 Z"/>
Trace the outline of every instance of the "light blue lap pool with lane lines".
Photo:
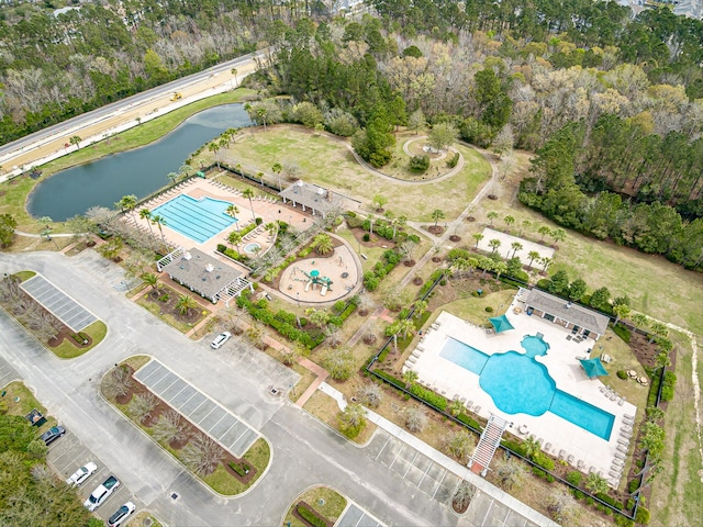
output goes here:
<path id="1" fill-rule="evenodd" d="M 224 231 L 237 220 L 225 213 L 232 203 L 179 194 L 157 206 L 152 214 L 166 218 L 166 226 L 202 244 Z"/>

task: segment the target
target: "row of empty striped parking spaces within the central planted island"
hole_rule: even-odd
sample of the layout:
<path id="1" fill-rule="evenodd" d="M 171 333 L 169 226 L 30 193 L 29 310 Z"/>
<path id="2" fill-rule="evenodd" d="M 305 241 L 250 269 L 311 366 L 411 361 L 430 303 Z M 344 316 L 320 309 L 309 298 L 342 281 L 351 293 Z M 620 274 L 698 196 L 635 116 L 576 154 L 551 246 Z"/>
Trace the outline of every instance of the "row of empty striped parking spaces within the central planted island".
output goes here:
<path id="1" fill-rule="evenodd" d="M 259 438 L 258 431 L 157 360 L 147 362 L 134 377 L 237 458 Z"/>

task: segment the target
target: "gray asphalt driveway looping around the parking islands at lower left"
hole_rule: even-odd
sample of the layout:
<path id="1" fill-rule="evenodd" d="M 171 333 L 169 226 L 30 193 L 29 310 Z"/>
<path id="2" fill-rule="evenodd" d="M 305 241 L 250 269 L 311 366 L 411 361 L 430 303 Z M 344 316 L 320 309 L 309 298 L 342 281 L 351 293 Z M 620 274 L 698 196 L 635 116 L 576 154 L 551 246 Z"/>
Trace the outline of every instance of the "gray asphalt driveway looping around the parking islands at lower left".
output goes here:
<path id="1" fill-rule="evenodd" d="M 109 326 L 101 345 L 62 361 L 0 316 L 0 357 L 167 524 L 276 525 L 292 500 L 314 484 L 333 485 L 388 526 L 461 524 L 446 505 L 398 478 L 368 449 L 271 397 L 267 388 L 287 386 L 291 370 L 241 345 L 231 354 L 190 341 L 92 274 L 87 260 L 51 253 L 0 254 L 0 272 L 41 272 Z M 100 397 L 98 380 L 134 354 L 154 355 L 269 440 L 272 462 L 249 493 L 234 500 L 213 495 Z"/>

